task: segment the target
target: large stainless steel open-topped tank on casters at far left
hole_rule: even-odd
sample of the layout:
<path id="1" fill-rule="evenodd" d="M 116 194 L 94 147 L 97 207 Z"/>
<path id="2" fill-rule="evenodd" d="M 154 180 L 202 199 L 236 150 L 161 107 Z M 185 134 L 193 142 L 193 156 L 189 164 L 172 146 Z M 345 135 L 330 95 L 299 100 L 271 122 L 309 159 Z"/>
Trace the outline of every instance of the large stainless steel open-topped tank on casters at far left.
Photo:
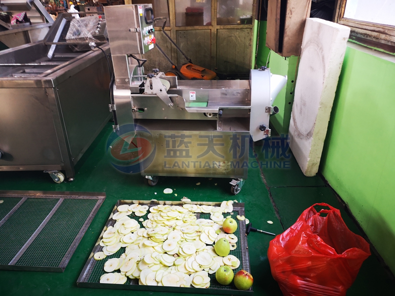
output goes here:
<path id="1" fill-rule="evenodd" d="M 0 52 L 0 171 L 42 170 L 57 183 L 65 171 L 73 180 L 76 163 L 111 118 L 103 52 L 60 42 L 73 19 L 64 13 L 45 40 Z M 109 45 L 102 50 L 109 54 Z"/>

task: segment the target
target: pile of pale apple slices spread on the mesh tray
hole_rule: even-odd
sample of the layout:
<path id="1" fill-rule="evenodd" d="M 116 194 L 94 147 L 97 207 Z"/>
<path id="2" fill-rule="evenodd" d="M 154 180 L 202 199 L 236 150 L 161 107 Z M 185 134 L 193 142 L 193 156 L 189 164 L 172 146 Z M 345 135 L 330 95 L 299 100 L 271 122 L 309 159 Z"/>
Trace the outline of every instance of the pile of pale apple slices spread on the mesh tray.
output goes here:
<path id="1" fill-rule="evenodd" d="M 103 233 L 102 252 L 94 259 L 102 260 L 120 248 L 120 258 L 108 259 L 100 283 L 124 284 L 125 279 L 138 279 L 139 285 L 209 288 L 209 274 L 220 266 L 236 269 L 237 257 L 220 257 L 214 244 L 226 238 L 231 250 L 237 248 L 237 236 L 222 228 L 224 213 L 233 211 L 233 201 L 224 201 L 220 207 L 184 204 L 158 205 L 149 208 L 139 204 L 121 205 L 112 219 L 117 222 Z M 149 214 L 140 224 L 128 217 L 134 213 L 141 217 Z M 196 213 L 210 214 L 210 219 L 197 219 Z M 115 272 L 118 271 L 119 272 Z"/>

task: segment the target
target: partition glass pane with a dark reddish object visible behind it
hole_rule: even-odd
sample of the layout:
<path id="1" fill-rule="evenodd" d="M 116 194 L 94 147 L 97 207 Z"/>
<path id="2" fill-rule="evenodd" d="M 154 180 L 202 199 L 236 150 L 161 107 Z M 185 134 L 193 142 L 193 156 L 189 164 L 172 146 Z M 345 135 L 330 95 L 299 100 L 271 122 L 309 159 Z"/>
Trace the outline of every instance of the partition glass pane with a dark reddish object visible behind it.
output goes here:
<path id="1" fill-rule="evenodd" d="M 210 26 L 211 0 L 175 0 L 176 26 Z"/>

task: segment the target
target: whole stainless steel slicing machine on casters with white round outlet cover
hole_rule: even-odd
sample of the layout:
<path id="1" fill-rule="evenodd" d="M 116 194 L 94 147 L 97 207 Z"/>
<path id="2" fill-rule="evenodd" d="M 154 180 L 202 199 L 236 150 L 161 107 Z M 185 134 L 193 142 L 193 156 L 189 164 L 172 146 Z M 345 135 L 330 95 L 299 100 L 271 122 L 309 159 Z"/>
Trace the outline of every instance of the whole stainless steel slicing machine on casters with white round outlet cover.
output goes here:
<path id="1" fill-rule="evenodd" d="M 273 102 L 286 76 L 266 67 L 251 70 L 250 80 L 233 81 L 178 81 L 158 69 L 144 74 L 144 59 L 134 55 L 155 46 L 154 30 L 147 32 L 150 23 L 144 17 L 151 7 L 104 9 L 115 73 L 114 131 L 128 144 L 133 137 L 124 135 L 133 133 L 137 150 L 151 149 L 149 161 L 140 163 L 150 185 L 158 176 L 232 178 L 231 191 L 237 194 L 247 177 L 249 137 L 270 136 L 269 118 L 278 112 Z M 198 159 L 193 166 L 191 159 Z"/>

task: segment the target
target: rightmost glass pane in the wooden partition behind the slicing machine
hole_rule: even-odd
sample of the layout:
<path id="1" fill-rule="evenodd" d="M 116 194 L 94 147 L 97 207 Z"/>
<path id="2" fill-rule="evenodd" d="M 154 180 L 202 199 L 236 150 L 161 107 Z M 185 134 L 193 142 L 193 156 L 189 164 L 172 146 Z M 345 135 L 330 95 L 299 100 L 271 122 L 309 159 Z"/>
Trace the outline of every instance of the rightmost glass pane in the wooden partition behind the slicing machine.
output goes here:
<path id="1" fill-rule="evenodd" d="M 252 24 L 253 0 L 218 0 L 217 25 Z"/>

